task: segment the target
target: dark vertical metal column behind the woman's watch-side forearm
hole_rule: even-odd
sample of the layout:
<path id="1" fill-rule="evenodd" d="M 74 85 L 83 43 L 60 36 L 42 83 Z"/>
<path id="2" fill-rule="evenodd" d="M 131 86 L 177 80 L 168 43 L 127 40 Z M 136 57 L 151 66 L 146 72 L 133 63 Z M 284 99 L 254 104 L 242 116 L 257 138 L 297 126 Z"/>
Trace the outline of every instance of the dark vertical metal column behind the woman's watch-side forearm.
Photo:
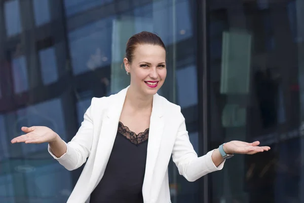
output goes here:
<path id="1" fill-rule="evenodd" d="M 199 156 L 209 151 L 210 93 L 208 61 L 208 8 L 207 0 L 197 1 L 197 73 L 199 99 Z M 211 190 L 208 175 L 199 180 L 199 202 L 210 202 Z"/>

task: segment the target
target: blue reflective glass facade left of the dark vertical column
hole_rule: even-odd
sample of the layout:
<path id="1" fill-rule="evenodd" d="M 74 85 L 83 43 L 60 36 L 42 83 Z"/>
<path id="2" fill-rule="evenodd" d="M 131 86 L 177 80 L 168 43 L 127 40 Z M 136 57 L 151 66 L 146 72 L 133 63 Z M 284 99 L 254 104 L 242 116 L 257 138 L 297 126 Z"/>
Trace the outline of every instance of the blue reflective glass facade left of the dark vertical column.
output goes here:
<path id="1" fill-rule="evenodd" d="M 47 144 L 10 144 L 21 126 L 45 125 L 70 141 L 92 97 L 129 84 L 127 40 L 157 32 L 168 76 L 159 92 L 179 104 L 198 150 L 195 5 L 187 0 L 0 1 L 0 202 L 66 202 L 83 167 L 66 171 Z M 173 202 L 198 199 L 169 165 Z"/>

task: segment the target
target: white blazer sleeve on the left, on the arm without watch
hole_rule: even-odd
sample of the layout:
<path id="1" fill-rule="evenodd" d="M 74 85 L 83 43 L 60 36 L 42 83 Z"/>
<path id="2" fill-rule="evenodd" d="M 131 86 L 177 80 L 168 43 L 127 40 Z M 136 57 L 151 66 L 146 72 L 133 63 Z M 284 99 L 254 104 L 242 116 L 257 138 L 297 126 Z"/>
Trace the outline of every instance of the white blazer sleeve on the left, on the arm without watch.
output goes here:
<path id="1" fill-rule="evenodd" d="M 75 170 L 82 166 L 90 155 L 93 140 L 93 99 L 94 98 L 91 100 L 90 107 L 84 114 L 84 120 L 81 123 L 78 132 L 70 142 L 65 143 L 67 146 L 66 153 L 58 158 L 52 153 L 52 149 L 50 145 L 48 145 L 49 153 L 69 171 Z"/>

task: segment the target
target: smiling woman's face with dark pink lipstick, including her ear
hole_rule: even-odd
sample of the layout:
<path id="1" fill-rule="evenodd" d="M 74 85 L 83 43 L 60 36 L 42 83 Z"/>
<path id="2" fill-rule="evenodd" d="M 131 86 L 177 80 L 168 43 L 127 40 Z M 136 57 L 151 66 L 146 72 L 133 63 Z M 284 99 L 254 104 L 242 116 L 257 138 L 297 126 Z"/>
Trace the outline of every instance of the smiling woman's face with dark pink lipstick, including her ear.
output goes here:
<path id="1" fill-rule="evenodd" d="M 132 88 L 144 95 L 156 94 L 167 75 L 165 49 L 158 45 L 137 45 L 133 56 L 131 64 L 124 58 Z"/>

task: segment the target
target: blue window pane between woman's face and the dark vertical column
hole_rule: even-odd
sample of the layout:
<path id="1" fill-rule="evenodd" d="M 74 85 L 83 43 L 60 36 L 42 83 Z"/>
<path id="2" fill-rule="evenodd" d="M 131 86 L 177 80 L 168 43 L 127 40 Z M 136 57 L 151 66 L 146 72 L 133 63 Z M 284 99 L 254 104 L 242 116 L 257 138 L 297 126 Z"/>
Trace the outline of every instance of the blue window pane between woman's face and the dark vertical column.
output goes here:
<path id="1" fill-rule="evenodd" d="M 197 72 L 195 66 L 176 71 L 177 101 L 181 108 L 198 103 Z"/>

